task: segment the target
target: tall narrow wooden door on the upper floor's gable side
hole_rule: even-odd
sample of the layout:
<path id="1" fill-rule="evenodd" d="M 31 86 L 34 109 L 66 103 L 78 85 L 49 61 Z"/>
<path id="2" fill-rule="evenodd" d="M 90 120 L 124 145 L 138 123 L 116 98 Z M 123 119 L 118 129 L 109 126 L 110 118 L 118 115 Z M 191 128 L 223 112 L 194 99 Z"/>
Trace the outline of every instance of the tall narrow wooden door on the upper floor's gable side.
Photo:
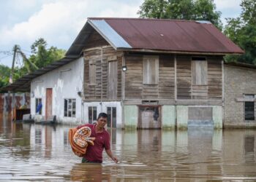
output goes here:
<path id="1" fill-rule="evenodd" d="M 108 62 L 108 99 L 117 98 L 117 61 Z"/>

